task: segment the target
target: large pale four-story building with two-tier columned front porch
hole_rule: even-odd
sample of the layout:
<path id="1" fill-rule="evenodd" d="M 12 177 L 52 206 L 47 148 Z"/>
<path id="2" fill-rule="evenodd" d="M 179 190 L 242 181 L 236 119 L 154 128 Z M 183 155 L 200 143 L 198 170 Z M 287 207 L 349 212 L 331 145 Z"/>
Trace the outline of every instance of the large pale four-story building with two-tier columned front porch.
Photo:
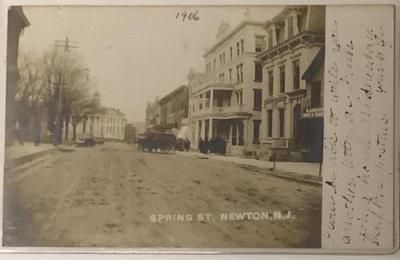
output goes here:
<path id="1" fill-rule="evenodd" d="M 244 154 L 260 142 L 262 66 L 265 24 L 246 17 L 236 28 L 219 27 L 205 54 L 205 73 L 188 74 L 192 148 L 200 138 L 225 138 L 227 152 Z"/>

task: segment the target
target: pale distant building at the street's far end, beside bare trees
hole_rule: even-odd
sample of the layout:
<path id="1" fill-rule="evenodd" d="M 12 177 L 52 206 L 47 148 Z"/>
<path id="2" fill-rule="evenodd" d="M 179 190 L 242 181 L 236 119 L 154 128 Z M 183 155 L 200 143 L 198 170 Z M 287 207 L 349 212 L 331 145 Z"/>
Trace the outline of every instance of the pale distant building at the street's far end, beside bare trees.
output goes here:
<path id="1" fill-rule="evenodd" d="M 124 113 L 115 108 L 103 107 L 88 117 L 86 129 L 94 137 L 124 140 L 126 124 Z"/>

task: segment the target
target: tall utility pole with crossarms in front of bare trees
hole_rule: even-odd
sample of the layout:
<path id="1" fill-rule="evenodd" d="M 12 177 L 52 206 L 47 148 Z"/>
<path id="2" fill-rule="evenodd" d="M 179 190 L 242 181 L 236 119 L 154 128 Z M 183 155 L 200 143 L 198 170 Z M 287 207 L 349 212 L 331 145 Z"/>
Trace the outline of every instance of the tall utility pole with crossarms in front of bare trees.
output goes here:
<path id="1" fill-rule="evenodd" d="M 59 145 L 62 142 L 62 96 L 63 96 L 63 88 L 65 85 L 65 70 L 66 70 L 66 61 L 67 56 L 70 52 L 71 48 L 78 48 L 77 42 L 71 42 L 68 37 L 65 38 L 64 41 L 55 41 L 56 47 L 64 48 L 64 56 L 63 56 L 63 67 L 62 67 L 62 76 L 61 76 L 61 85 L 58 90 L 58 101 L 57 101 L 57 121 L 56 121 L 56 137 L 54 145 Z"/>

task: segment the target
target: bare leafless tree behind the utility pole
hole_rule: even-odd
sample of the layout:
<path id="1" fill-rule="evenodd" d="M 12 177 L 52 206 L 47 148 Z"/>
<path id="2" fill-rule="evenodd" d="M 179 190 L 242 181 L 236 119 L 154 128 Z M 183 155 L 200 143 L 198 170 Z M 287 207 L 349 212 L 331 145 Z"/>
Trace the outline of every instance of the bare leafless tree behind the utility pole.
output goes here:
<path id="1" fill-rule="evenodd" d="M 68 128 L 72 123 L 73 139 L 75 140 L 77 125 L 88 111 L 94 109 L 90 94 L 94 84 L 89 81 L 88 70 L 85 68 L 84 62 L 74 53 L 65 55 L 57 49 L 49 50 L 43 55 L 43 64 L 49 118 L 48 129 L 54 133 L 56 120 L 60 120 L 59 123 L 65 126 L 64 139 L 68 140 Z M 60 113 L 57 113 L 58 111 Z M 57 116 L 61 118 L 57 118 Z"/>

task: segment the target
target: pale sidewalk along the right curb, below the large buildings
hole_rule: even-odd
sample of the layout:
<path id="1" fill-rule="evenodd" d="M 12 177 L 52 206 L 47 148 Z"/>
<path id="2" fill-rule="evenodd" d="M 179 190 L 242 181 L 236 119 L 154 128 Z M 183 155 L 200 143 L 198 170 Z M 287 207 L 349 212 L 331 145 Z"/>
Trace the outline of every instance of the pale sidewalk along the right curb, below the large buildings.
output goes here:
<path id="1" fill-rule="evenodd" d="M 236 163 L 239 165 L 245 165 L 250 167 L 257 167 L 261 169 L 272 169 L 274 164 L 270 161 L 256 160 L 252 158 L 242 158 L 238 156 L 224 156 L 215 154 L 202 154 L 200 152 L 176 152 L 180 155 L 193 156 L 198 158 L 208 158 L 213 160 L 225 161 Z M 275 163 L 274 173 L 280 177 L 287 177 L 292 179 L 299 179 L 303 181 L 311 181 L 321 183 L 321 177 L 319 176 L 319 163 L 311 162 L 281 162 Z"/>

